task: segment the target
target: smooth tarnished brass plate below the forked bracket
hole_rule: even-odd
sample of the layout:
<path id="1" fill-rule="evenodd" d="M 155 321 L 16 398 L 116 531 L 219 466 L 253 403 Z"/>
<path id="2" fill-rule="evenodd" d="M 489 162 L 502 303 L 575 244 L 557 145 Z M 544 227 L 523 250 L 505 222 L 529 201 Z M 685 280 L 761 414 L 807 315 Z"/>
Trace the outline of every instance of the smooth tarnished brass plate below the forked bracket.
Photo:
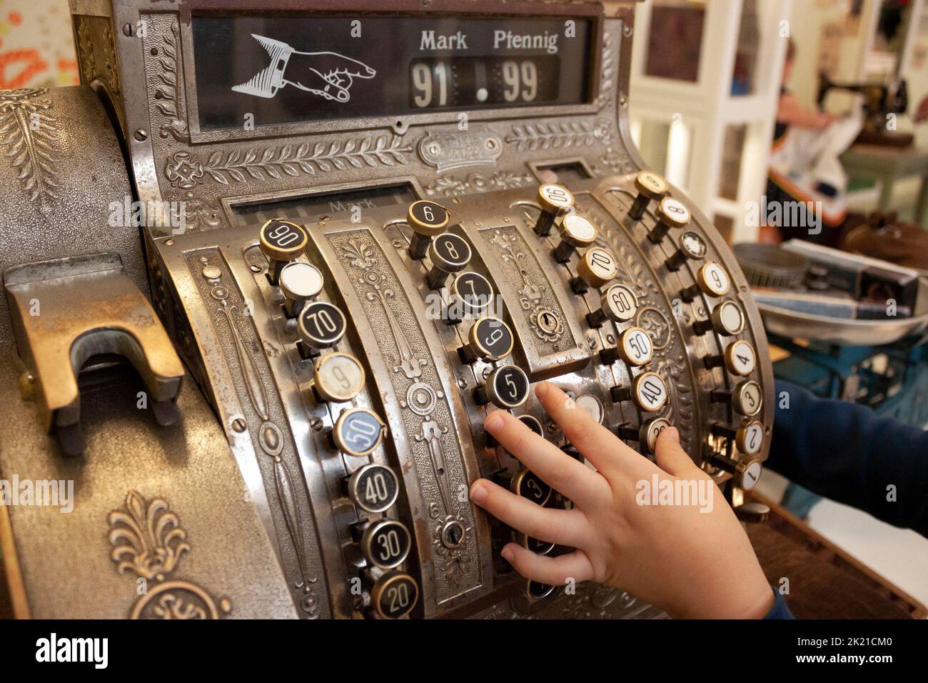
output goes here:
<path id="1" fill-rule="evenodd" d="M 0 477 L 74 482 L 71 513 L 51 506 L 4 508 L 32 617 L 132 614 L 139 573 L 132 567 L 121 571 L 112 556 L 116 548 L 131 546 L 137 559 L 146 541 L 114 538 L 112 515 L 130 514 L 127 498 L 134 492 L 146 508 L 156 499 L 165 501 L 185 532 L 189 550 L 176 558 L 173 571 L 161 571 L 165 581 L 182 580 L 215 600 L 228 598 L 233 617 L 296 616 L 274 547 L 195 382 L 187 378 L 183 384 L 182 422 L 167 430 L 136 408 L 141 387 L 91 392 L 82 406 L 87 450 L 82 458 L 62 458 L 41 428 L 36 405 L 20 401 L 12 390 L 23 370 L 15 354 L 0 355 Z M 167 542 L 176 550 L 166 534 L 156 535 L 149 549 Z M 118 555 L 119 561 L 130 558 L 124 550 Z M 141 578 L 149 594 L 162 583 L 155 573 Z"/>

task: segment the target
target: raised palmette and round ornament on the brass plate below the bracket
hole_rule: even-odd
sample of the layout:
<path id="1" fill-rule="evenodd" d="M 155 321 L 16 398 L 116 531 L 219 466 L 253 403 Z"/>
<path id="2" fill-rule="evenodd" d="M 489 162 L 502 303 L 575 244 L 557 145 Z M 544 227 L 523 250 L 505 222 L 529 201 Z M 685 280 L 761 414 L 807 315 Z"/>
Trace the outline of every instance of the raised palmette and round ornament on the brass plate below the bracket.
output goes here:
<path id="1" fill-rule="evenodd" d="M 130 491 L 125 507 L 110 512 L 110 559 L 120 573 L 135 572 L 154 587 L 135 601 L 131 619 L 218 619 L 232 611 L 228 598 L 213 598 L 197 584 L 168 580 L 186 553 L 187 532 L 166 501 L 146 501 Z"/>

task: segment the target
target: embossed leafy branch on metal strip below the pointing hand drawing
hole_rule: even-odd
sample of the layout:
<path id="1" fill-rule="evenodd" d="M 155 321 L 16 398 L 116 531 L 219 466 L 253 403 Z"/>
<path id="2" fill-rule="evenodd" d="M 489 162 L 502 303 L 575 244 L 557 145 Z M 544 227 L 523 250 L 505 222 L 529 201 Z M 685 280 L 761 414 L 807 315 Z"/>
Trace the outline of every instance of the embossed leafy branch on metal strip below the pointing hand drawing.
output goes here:
<path id="1" fill-rule="evenodd" d="M 360 140 L 335 140 L 303 143 L 298 147 L 283 145 L 268 147 L 264 151 L 250 149 L 230 151 L 224 158 L 222 151 L 214 151 L 203 170 L 217 183 L 228 185 L 230 180 L 245 182 L 254 180 L 280 179 L 284 176 L 297 177 L 301 173 L 315 176 L 316 172 L 348 171 L 374 167 L 378 164 L 392 166 L 406 164 L 406 154 L 412 147 L 403 144 L 403 138 L 381 135 L 368 136 Z"/>

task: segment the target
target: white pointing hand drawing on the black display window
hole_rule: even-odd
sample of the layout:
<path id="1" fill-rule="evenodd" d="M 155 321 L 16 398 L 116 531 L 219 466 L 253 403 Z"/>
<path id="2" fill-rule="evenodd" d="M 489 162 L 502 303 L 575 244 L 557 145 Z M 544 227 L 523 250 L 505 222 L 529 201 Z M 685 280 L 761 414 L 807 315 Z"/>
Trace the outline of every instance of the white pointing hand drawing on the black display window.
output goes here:
<path id="1" fill-rule="evenodd" d="M 284 85 L 293 85 L 320 98 L 347 102 L 354 78 L 373 78 L 367 64 L 337 52 L 301 52 L 263 35 L 251 36 L 264 47 L 270 64 L 251 80 L 232 89 L 259 98 L 273 98 Z"/>

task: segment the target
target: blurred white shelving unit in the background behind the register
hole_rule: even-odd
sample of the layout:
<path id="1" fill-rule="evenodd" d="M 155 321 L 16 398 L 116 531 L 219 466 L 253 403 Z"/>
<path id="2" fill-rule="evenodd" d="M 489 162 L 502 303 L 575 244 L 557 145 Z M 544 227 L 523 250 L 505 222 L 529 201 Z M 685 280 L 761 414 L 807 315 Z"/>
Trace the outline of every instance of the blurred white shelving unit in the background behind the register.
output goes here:
<path id="1" fill-rule="evenodd" d="M 745 204 L 757 202 L 766 185 L 791 6 L 792 0 L 648 0 L 636 13 L 632 137 L 654 170 L 685 190 L 732 243 L 757 236 L 745 221 Z M 692 32 L 700 22 L 694 69 L 691 59 L 680 58 L 681 45 L 686 40 L 696 49 Z M 739 53 L 754 59 L 745 94 L 733 94 Z M 673 77 L 677 68 L 682 77 Z"/>

